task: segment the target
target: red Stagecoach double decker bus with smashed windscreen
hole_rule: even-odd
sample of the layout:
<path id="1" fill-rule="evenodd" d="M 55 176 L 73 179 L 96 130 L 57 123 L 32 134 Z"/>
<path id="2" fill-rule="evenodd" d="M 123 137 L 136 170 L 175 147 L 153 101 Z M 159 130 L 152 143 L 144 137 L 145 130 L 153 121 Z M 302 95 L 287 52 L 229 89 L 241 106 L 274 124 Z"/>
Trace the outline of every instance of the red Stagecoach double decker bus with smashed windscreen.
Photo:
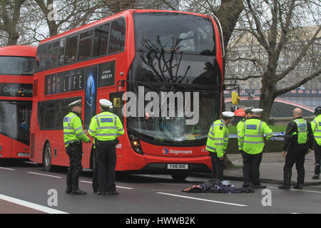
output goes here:
<path id="1" fill-rule="evenodd" d="M 222 53 L 209 16 L 179 11 L 128 10 L 39 43 L 34 75 L 31 156 L 68 166 L 63 117 L 81 99 L 84 128 L 98 100 L 113 102 L 125 134 L 116 170 L 168 173 L 211 168 L 208 129 L 222 110 Z M 92 163 L 83 144 L 83 167 Z"/>

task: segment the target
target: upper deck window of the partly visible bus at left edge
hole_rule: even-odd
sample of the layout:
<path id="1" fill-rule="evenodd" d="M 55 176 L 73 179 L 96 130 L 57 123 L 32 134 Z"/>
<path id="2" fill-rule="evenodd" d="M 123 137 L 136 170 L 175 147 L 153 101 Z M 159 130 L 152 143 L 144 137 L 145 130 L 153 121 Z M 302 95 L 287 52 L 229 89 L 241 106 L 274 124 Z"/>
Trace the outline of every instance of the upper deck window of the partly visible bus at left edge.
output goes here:
<path id="1" fill-rule="evenodd" d="M 0 75 L 33 76 L 34 57 L 0 56 Z"/>

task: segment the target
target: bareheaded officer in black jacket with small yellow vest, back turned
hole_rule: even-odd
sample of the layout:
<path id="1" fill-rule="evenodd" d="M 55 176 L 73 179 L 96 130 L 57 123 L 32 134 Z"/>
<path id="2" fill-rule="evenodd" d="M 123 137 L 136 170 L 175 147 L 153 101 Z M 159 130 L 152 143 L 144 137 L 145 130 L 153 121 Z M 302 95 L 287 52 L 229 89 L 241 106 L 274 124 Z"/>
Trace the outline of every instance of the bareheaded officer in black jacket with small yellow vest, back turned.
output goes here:
<path id="1" fill-rule="evenodd" d="M 302 190 L 305 180 L 305 154 L 308 147 L 311 149 L 313 145 L 313 135 L 310 123 L 302 118 L 302 110 L 295 108 L 293 117 L 290 123 L 287 124 L 285 133 L 285 142 L 282 150 L 282 155 L 285 156 L 285 165 L 283 167 L 284 182 L 280 185 L 280 189 L 289 190 L 292 176 L 292 166 L 295 163 L 297 168 L 297 185 L 293 188 Z M 290 147 L 289 147 L 290 145 Z M 289 147 L 288 152 L 287 147 Z"/>

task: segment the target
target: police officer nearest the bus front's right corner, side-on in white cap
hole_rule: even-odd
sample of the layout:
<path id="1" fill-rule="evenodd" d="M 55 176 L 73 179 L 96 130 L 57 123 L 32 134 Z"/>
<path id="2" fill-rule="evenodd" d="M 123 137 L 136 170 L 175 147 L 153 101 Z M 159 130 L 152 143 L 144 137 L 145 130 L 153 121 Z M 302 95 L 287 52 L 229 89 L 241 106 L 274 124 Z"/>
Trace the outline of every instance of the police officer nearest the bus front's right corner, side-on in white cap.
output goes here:
<path id="1" fill-rule="evenodd" d="M 216 120 L 210 126 L 206 150 L 210 152 L 212 160 L 212 177 L 220 181 L 223 180 L 224 155 L 228 147 L 228 123 L 233 118 L 234 113 L 223 112 L 223 118 Z"/>

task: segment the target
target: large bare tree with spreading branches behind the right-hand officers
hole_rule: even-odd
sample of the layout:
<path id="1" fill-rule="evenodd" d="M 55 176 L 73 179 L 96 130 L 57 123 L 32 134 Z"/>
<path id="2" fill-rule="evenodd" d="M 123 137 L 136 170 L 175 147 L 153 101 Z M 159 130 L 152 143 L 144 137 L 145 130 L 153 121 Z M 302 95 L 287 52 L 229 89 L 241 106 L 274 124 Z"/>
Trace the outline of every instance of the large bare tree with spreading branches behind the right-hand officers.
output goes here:
<path id="1" fill-rule="evenodd" d="M 320 76 L 320 5 L 307 0 L 246 0 L 244 12 L 238 35 L 249 51 L 234 60 L 255 66 L 257 71 L 243 80 L 261 78 L 260 108 L 269 120 L 277 95 Z M 233 43 L 239 46 L 239 41 Z"/>

